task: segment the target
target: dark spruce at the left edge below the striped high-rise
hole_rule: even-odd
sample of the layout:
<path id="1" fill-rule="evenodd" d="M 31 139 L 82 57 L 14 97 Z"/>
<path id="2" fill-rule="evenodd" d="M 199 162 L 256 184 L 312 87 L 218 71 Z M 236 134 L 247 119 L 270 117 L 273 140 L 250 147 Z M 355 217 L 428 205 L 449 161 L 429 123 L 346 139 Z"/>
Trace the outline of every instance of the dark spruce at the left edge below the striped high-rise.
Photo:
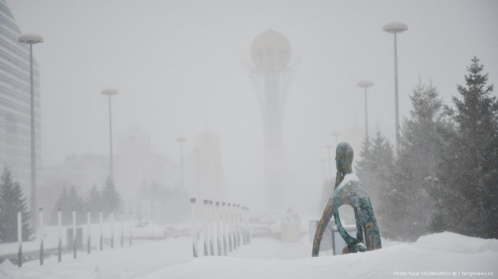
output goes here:
<path id="1" fill-rule="evenodd" d="M 22 240 L 28 241 L 33 234 L 29 226 L 26 199 L 22 197 L 19 182 L 12 179 L 12 173 L 5 166 L 0 183 L 0 242 L 17 241 L 17 212 L 21 211 Z"/>

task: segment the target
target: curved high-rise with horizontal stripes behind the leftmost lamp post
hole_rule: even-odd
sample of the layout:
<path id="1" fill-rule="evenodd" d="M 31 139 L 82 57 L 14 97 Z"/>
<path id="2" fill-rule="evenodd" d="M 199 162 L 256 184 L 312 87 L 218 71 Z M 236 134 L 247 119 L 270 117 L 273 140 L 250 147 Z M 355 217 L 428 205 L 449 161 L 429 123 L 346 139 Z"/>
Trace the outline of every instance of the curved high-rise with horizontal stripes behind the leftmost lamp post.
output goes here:
<path id="1" fill-rule="evenodd" d="M 21 31 L 5 0 L 0 0 L 0 164 L 30 195 L 30 69 L 29 45 L 17 40 Z M 41 162 L 40 72 L 33 59 L 34 117 L 37 169 Z"/>

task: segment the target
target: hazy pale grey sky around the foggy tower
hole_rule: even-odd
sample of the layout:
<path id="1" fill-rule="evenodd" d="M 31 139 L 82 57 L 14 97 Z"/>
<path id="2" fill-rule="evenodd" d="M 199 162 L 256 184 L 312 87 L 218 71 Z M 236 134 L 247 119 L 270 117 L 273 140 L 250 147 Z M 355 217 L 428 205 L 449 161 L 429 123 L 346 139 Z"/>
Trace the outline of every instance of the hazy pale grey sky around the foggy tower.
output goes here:
<path id="1" fill-rule="evenodd" d="M 447 104 L 465 84 L 473 56 L 498 81 L 498 1 L 177 1 L 7 0 L 23 33 L 44 43 L 33 53 L 41 72 L 42 156 L 45 166 L 68 154 L 107 154 L 107 87 L 113 129 L 137 126 L 153 148 L 180 160 L 194 156 L 195 137 L 209 125 L 221 139 L 227 185 L 250 187 L 261 177 L 263 136 L 256 94 L 245 62 L 260 33 L 273 29 L 300 57 L 284 118 L 288 169 L 295 186 L 319 191 L 327 143 L 364 137 L 369 79 L 369 125 L 394 142 L 393 36 L 398 36 L 400 114 L 409 94 L 432 78 Z M 298 55 L 299 54 L 299 55 Z M 496 95 L 496 93 L 494 93 Z M 357 132 L 354 132 L 354 131 Z M 115 152 L 119 152 L 116 150 Z M 353 166 L 355 167 L 355 165 Z M 297 191 L 297 190 L 296 190 Z"/>

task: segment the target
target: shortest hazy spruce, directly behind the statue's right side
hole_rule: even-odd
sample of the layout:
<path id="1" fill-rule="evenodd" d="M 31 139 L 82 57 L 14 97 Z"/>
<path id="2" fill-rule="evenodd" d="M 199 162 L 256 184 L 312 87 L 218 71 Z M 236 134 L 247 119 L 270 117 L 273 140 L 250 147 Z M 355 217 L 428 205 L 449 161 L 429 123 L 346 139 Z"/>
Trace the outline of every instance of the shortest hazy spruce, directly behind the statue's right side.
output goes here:
<path id="1" fill-rule="evenodd" d="M 368 193 L 382 237 L 396 237 L 398 199 L 391 188 L 393 149 L 377 129 L 375 138 L 365 138 L 358 162 L 358 177 Z"/>

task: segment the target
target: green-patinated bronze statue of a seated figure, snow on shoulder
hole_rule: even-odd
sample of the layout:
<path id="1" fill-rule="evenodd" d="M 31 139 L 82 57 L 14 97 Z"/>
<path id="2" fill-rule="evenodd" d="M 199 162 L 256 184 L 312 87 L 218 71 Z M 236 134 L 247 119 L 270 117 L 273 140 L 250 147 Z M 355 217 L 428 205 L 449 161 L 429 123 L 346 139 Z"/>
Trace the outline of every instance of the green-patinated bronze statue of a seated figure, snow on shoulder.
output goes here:
<path id="1" fill-rule="evenodd" d="M 313 241 L 312 257 L 318 257 L 323 232 L 332 215 L 334 215 L 337 230 L 348 244 L 347 247 L 344 247 L 343 254 L 371 251 L 382 247 L 372 203 L 362 187 L 362 182 L 353 174 L 351 167 L 353 155 L 353 148 L 349 143 L 341 142 L 337 145 L 337 175 L 334 193 L 323 210 L 322 219 L 318 223 Z M 338 210 L 342 205 L 351 206 L 355 212 L 356 238 L 349 235 L 341 224 Z"/>

